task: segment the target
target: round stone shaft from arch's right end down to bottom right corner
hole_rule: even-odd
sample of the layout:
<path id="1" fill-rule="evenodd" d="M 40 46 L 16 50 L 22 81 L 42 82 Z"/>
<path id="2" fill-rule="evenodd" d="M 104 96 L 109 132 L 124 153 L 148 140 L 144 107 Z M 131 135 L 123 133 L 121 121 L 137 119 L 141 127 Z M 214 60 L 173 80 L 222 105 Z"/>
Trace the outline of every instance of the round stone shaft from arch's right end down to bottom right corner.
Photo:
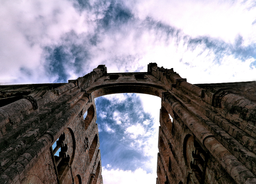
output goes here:
<path id="1" fill-rule="evenodd" d="M 210 151 L 210 153 L 220 162 L 227 170 L 230 176 L 237 183 L 246 183 L 244 178 L 250 182 L 256 183 L 256 177 L 250 172 L 237 158 L 232 155 L 218 140 L 213 137 L 213 134 L 205 128 L 200 122 L 190 115 L 171 95 L 167 95 L 164 99 L 172 106 L 172 109 L 189 127 L 199 141 Z M 249 179 L 248 179 L 249 178 Z"/>

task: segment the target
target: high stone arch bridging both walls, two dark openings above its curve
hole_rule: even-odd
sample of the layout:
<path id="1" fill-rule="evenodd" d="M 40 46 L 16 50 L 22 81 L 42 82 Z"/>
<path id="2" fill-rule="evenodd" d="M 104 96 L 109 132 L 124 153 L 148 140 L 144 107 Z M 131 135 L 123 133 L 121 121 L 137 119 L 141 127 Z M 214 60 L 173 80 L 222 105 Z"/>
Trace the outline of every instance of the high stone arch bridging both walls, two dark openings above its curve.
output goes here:
<path id="1" fill-rule="evenodd" d="M 143 93 L 161 98 L 167 92 L 167 86 L 147 72 L 109 73 L 99 78 L 93 86 L 83 89 L 91 99 L 116 93 Z"/>

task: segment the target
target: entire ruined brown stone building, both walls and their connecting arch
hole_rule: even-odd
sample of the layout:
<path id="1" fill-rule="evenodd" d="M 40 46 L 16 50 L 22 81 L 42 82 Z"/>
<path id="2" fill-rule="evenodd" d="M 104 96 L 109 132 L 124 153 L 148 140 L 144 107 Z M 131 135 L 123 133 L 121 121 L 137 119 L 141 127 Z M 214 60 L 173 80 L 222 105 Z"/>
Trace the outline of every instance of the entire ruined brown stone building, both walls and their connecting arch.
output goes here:
<path id="1" fill-rule="evenodd" d="M 114 93 L 162 99 L 157 184 L 256 184 L 256 83 L 193 85 L 156 63 L 0 86 L 0 183 L 102 184 L 94 98 Z"/>

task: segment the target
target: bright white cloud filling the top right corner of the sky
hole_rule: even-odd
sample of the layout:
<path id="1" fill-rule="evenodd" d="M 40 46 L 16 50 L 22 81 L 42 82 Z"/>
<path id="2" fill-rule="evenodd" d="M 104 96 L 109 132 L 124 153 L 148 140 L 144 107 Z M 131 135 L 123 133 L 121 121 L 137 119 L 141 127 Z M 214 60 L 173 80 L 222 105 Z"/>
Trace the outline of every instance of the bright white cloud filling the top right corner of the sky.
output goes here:
<path id="1" fill-rule="evenodd" d="M 210 35 L 226 41 L 234 41 L 237 34 L 253 38 L 256 27 L 254 1 L 134 1 L 126 5 L 140 19 L 153 17 L 182 29 L 193 37 Z M 248 40 L 249 41 L 249 40 Z"/>

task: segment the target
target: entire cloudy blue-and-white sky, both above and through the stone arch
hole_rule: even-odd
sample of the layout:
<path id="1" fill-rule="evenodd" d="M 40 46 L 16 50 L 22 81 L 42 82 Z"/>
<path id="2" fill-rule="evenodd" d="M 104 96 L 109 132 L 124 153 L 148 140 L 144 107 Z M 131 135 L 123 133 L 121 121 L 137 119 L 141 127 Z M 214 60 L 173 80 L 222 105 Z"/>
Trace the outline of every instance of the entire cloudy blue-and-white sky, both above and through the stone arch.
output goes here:
<path id="1" fill-rule="evenodd" d="M 145 72 L 150 62 L 192 84 L 254 81 L 255 33 L 249 0 L 0 0 L 0 84 L 67 82 L 99 64 Z M 104 184 L 155 183 L 160 99 L 95 103 Z"/>

